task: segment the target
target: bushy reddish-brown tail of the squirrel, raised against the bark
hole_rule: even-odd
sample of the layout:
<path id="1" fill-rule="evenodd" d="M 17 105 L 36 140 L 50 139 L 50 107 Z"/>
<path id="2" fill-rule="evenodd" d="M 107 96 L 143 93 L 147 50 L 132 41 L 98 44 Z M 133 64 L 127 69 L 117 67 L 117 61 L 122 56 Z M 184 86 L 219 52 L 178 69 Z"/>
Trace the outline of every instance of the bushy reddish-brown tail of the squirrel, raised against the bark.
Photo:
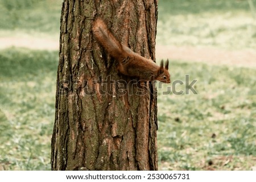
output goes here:
<path id="1" fill-rule="evenodd" d="M 122 44 L 119 43 L 113 33 L 109 31 L 102 19 L 97 18 L 94 20 L 92 30 L 96 40 L 106 49 L 110 56 L 117 60 L 122 57 L 124 53 Z"/>

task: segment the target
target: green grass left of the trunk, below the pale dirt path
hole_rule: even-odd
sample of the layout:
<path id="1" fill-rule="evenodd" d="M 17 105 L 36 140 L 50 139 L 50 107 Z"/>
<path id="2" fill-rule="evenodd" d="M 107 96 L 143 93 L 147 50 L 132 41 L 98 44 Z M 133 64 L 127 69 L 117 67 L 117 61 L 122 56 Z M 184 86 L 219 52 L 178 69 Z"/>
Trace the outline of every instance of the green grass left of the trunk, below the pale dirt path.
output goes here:
<path id="1" fill-rule="evenodd" d="M 0 170 L 49 170 L 57 52 L 0 52 Z"/>

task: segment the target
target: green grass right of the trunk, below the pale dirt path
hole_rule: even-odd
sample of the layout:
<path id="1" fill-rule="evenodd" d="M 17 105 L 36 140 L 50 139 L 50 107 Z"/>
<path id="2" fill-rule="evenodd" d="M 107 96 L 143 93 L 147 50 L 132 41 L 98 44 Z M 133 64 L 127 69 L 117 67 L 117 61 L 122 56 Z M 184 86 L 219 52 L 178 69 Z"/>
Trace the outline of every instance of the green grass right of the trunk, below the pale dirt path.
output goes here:
<path id="1" fill-rule="evenodd" d="M 251 170 L 256 162 L 255 69 L 180 61 L 171 67 L 172 81 L 185 82 L 189 74 L 197 80 L 198 94 L 162 95 L 166 85 L 158 90 L 160 168 Z"/>

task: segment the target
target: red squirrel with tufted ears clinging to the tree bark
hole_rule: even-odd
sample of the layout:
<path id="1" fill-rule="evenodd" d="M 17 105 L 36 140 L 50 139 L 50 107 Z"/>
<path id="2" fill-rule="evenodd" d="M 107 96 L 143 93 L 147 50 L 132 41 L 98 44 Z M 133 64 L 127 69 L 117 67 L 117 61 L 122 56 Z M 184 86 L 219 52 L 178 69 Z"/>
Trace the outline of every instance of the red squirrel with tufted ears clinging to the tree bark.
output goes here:
<path id="1" fill-rule="evenodd" d="M 137 77 L 145 81 L 157 80 L 163 83 L 171 82 L 168 72 L 168 60 L 165 65 L 163 65 L 162 60 L 160 66 L 158 66 L 154 61 L 148 60 L 133 52 L 114 37 L 105 22 L 100 18 L 94 20 L 92 30 L 96 40 L 111 57 L 118 61 L 117 70 L 119 73 L 129 77 Z"/>

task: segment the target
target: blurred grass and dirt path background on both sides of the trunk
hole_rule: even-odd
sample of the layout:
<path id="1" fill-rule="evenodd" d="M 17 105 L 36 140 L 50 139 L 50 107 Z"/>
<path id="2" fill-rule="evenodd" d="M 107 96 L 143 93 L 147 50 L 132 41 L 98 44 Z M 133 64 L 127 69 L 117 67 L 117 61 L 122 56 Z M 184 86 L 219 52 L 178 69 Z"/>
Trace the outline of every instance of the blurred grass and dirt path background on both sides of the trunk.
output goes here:
<path id="1" fill-rule="evenodd" d="M 61 2 L 0 0 L 0 170 L 51 170 Z M 159 87 L 159 170 L 256 170 L 256 0 L 159 0 L 156 57 L 198 93 Z"/>

